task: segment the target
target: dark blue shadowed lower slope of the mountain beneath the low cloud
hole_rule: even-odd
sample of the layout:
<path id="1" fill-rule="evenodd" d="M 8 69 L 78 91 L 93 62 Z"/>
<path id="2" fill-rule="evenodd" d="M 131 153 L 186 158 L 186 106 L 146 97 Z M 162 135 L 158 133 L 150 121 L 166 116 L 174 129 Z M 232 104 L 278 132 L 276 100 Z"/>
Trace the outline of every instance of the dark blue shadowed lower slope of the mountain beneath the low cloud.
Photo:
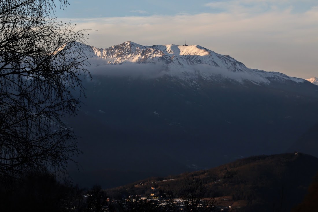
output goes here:
<path id="1" fill-rule="evenodd" d="M 79 136 L 84 154 L 76 160 L 88 185 L 96 183 L 94 173 L 100 170 L 139 173 L 98 180 L 116 186 L 285 152 L 318 120 L 317 86 L 309 82 L 260 86 L 168 76 L 93 79 L 85 85 L 86 106 L 67 120 Z M 81 174 L 74 179 L 83 181 Z"/>

